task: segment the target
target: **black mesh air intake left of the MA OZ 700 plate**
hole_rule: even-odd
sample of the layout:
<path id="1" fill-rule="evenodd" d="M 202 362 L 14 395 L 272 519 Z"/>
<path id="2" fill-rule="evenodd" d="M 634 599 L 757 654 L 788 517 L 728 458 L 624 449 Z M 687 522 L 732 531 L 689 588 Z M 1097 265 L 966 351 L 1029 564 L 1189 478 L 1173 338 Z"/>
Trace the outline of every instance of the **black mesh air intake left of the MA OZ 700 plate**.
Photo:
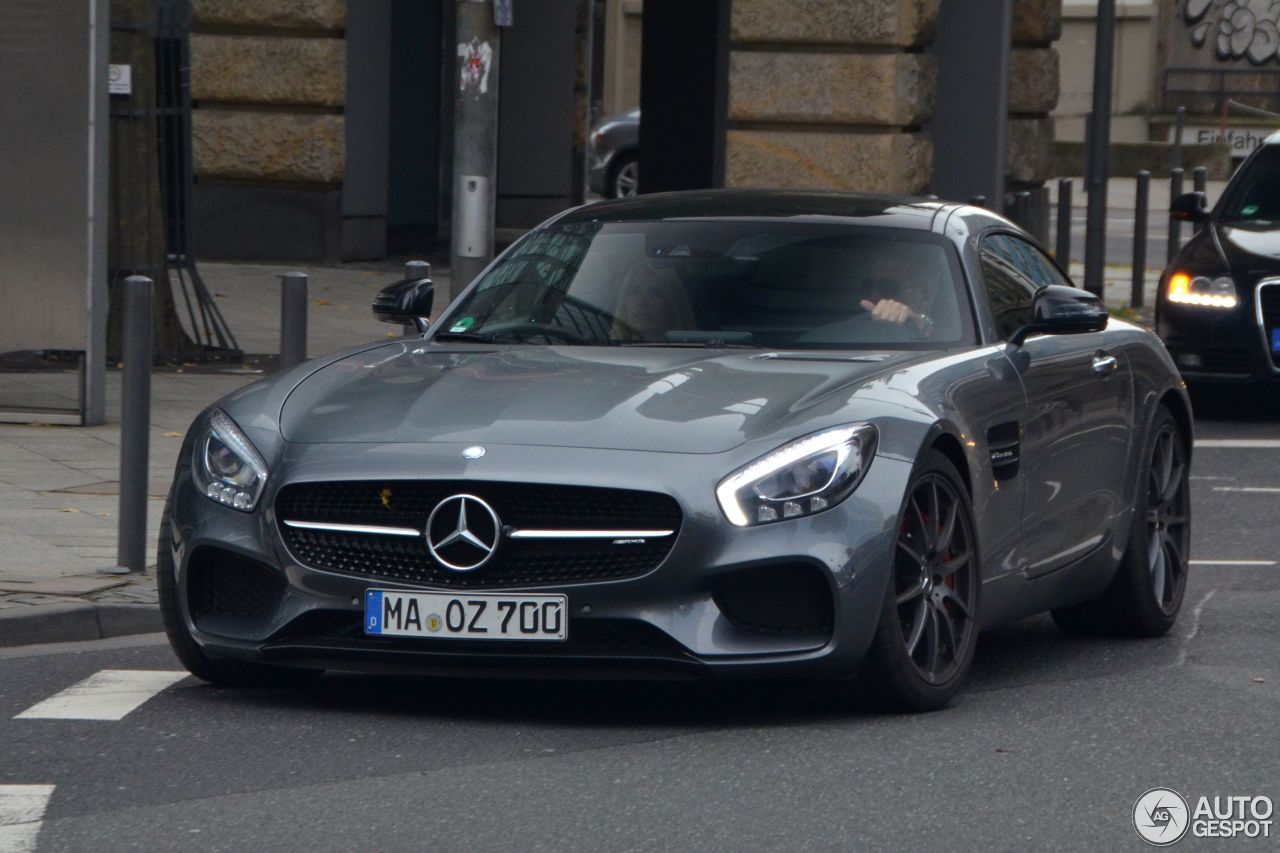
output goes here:
<path id="1" fill-rule="evenodd" d="M 202 616 L 260 616 L 284 587 L 269 566 L 220 548 L 197 548 L 187 562 L 187 601 L 197 624 Z"/>

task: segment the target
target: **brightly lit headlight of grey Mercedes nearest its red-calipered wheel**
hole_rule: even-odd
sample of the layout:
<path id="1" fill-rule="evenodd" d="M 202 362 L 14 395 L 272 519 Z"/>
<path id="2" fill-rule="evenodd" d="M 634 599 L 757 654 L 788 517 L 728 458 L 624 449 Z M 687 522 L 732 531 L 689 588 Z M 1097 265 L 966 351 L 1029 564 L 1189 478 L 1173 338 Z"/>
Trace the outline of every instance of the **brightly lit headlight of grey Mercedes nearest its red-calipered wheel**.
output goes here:
<path id="1" fill-rule="evenodd" d="M 876 453 L 876 428 L 851 424 L 783 444 L 716 487 L 730 524 L 745 528 L 813 515 L 849 497 Z"/>

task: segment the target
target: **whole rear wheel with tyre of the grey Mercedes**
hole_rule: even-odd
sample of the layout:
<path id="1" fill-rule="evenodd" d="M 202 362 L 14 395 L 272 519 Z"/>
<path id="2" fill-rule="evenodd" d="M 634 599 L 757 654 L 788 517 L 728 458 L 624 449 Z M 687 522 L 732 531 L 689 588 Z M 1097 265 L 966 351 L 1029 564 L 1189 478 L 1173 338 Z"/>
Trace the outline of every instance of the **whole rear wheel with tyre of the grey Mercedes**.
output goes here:
<path id="1" fill-rule="evenodd" d="M 1190 489 L 1187 439 L 1161 407 L 1143 451 L 1133 529 L 1111 585 L 1098 598 L 1053 611 L 1074 635 L 1160 637 L 1178 620 L 1187 593 Z"/>

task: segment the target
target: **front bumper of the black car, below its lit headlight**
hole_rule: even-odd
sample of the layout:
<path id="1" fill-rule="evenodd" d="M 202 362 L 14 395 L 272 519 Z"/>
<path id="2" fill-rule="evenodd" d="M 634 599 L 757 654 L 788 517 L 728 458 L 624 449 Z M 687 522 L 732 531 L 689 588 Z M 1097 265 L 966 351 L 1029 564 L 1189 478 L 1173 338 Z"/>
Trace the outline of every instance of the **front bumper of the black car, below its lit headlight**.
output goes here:
<path id="1" fill-rule="evenodd" d="M 1229 310 L 1161 298 L 1156 330 L 1189 382 L 1280 382 L 1280 280 L 1247 291 Z"/>

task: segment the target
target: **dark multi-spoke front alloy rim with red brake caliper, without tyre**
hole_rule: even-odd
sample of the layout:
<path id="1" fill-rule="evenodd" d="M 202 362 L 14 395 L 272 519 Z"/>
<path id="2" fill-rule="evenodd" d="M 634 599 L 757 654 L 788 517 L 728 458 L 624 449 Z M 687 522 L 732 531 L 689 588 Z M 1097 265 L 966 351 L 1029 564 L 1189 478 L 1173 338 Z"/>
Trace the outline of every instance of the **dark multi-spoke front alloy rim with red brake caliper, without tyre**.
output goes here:
<path id="1" fill-rule="evenodd" d="M 977 571 L 969 512 L 951 483 L 916 482 L 899 529 L 893 593 L 906 656 L 931 684 L 952 678 L 977 630 Z"/>

